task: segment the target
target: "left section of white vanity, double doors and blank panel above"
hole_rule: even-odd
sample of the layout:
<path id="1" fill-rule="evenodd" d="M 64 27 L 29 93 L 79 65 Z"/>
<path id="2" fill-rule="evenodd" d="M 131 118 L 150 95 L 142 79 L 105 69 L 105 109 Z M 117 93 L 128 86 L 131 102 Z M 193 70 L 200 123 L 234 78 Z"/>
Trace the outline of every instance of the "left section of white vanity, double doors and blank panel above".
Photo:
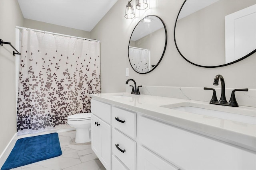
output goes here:
<path id="1" fill-rule="evenodd" d="M 92 150 L 106 170 L 112 170 L 112 127 L 104 121 L 111 121 L 111 105 L 92 100 L 91 110 Z"/>

